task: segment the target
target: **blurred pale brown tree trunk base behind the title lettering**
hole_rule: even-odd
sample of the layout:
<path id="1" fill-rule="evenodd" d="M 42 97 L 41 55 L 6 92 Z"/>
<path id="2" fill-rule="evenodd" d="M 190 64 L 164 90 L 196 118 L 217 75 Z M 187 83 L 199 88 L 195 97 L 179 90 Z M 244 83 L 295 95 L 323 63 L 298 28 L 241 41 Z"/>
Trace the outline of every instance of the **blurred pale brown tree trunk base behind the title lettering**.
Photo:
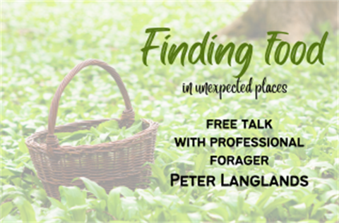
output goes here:
<path id="1" fill-rule="evenodd" d="M 319 24 L 330 23 L 338 29 L 338 2 L 335 1 L 254 1 L 249 9 L 216 34 L 250 39 L 266 37 L 268 31 L 288 32 L 280 37 L 289 42 L 302 41 L 313 32 L 321 34 Z M 331 30 L 327 30 L 331 34 Z M 221 39 L 220 38 L 220 39 Z"/>

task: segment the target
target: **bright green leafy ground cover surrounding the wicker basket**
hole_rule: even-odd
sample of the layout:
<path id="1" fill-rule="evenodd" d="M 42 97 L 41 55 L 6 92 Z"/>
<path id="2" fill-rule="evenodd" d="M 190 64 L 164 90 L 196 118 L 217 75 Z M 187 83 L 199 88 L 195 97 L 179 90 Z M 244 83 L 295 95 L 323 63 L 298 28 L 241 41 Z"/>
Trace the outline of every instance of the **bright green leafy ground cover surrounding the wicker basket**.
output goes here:
<path id="1" fill-rule="evenodd" d="M 201 41 L 246 2 L 2 2 L 1 222 L 338 222 L 338 34 L 328 30 L 325 66 L 264 63 L 266 40 L 242 77 L 286 83 L 286 94 L 186 95 L 182 83 L 233 83 L 239 66 L 160 63 L 141 48 L 150 27 L 171 28 L 172 42 Z M 164 36 L 165 37 L 165 36 Z M 320 41 L 307 37 L 307 44 Z M 162 35 L 156 38 L 158 44 Z M 236 44 L 249 40 L 232 39 Z M 49 106 L 80 61 L 100 59 L 121 75 L 138 116 L 160 123 L 150 187 L 109 194 L 82 178 L 86 190 L 60 187 L 48 198 L 24 140 L 47 128 Z M 85 68 L 61 97 L 57 125 L 118 118 L 124 103 L 114 80 Z M 273 119 L 273 130 L 207 130 L 206 119 Z M 300 137 L 305 147 L 176 147 L 174 137 Z M 219 166 L 210 155 L 266 155 L 268 166 Z M 170 174 L 307 175 L 307 187 L 180 187 Z M 88 195 L 89 193 L 93 195 Z"/>

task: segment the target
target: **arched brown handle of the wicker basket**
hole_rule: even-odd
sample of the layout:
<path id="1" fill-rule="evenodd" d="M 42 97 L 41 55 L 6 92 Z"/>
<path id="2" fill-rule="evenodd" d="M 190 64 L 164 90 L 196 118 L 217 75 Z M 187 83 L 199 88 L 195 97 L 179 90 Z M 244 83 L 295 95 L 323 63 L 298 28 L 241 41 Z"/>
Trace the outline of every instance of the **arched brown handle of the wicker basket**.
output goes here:
<path id="1" fill-rule="evenodd" d="M 97 59 L 88 59 L 80 64 L 76 65 L 62 80 L 62 82 L 59 85 L 59 88 L 57 89 L 57 92 L 55 92 L 55 95 L 52 100 L 51 107 L 49 109 L 49 116 L 48 116 L 48 134 L 46 137 L 46 143 L 47 143 L 47 150 L 48 152 L 52 152 L 52 149 L 54 147 L 59 146 L 59 141 L 56 135 L 54 135 L 54 128 L 55 123 L 57 121 L 57 113 L 59 108 L 59 100 L 62 95 L 62 92 L 64 92 L 64 89 L 66 86 L 71 82 L 72 78 L 76 76 L 76 74 L 81 71 L 86 66 L 100 66 L 101 68 L 105 69 L 115 80 L 117 83 L 119 90 L 121 92 L 122 97 L 124 98 L 125 102 L 125 110 L 121 114 L 121 118 L 119 121 L 119 126 L 131 126 L 134 121 L 134 111 L 131 105 L 131 100 L 129 99 L 129 93 L 127 92 L 124 83 L 122 82 L 119 73 L 112 68 L 112 66 L 109 66 L 104 61 L 100 61 Z"/>

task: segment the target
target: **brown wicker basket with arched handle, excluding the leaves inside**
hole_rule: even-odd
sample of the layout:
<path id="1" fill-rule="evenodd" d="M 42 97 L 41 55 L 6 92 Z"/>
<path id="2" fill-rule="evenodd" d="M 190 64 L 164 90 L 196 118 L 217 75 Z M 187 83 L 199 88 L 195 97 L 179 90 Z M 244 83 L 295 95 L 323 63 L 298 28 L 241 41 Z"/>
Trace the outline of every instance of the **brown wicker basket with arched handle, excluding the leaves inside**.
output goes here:
<path id="1" fill-rule="evenodd" d="M 96 65 L 104 68 L 116 81 L 126 109 L 117 120 L 119 127 L 129 128 L 134 121 L 134 112 L 117 71 L 103 61 L 88 59 L 75 66 L 62 80 L 55 93 L 49 109 L 48 130 L 30 135 L 25 141 L 30 151 L 30 157 L 37 170 L 37 176 L 42 181 L 47 195 L 59 199 L 59 186 L 79 186 L 84 176 L 97 182 L 109 192 L 114 186 L 127 186 L 131 189 L 145 188 L 151 174 L 150 167 L 145 162 L 153 162 L 153 153 L 158 123 L 143 119 L 143 131 L 123 140 L 97 145 L 59 145 L 55 133 L 73 132 L 89 129 L 92 126 L 112 119 L 86 120 L 55 126 L 59 100 L 62 92 L 71 79 L 86 66 Z M 73 182 L 72 182 L 73 181 Z"/>

